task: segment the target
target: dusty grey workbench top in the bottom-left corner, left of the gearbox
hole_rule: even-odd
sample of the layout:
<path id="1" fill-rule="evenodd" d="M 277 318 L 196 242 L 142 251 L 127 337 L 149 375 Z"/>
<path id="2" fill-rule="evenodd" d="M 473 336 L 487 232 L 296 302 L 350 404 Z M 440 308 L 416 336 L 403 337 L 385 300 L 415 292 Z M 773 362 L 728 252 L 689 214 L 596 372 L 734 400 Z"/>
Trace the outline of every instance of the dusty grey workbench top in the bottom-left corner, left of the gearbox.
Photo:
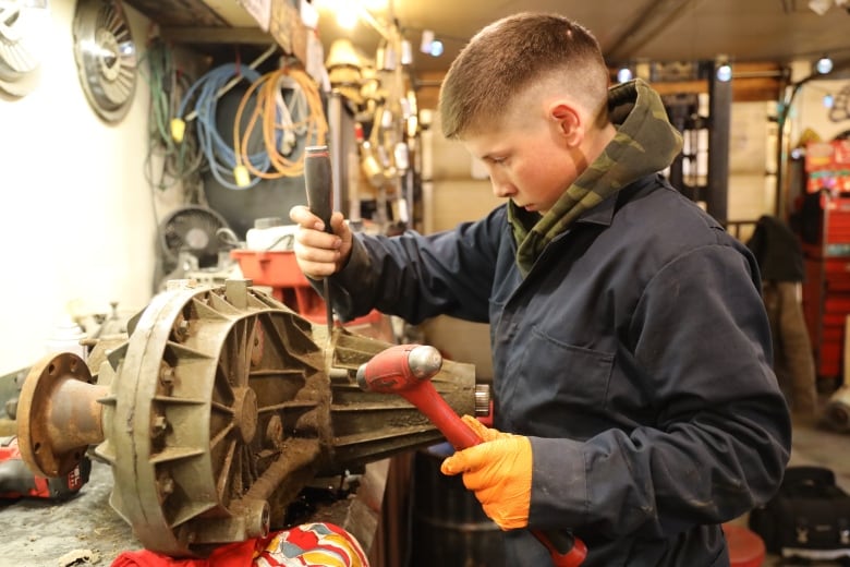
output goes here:
<path id="1" fill-rule="evenodd" d="M 109 505 L 111 491 L 109 466 L 95 461 L 88 483 L 69 500 L 0 500 L 0 566 L 108 566 L 142 548 Z"/>

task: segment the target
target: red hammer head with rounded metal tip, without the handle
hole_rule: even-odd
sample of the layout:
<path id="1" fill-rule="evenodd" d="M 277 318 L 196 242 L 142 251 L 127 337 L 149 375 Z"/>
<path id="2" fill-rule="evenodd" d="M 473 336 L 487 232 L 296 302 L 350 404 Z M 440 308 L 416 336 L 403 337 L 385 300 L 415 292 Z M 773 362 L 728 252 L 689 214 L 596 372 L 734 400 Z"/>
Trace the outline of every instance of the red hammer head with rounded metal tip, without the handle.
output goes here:
<path id="1" fill-rule="evenodd" d="M 399 394 L 430 379 L 442 367 L 442 355 L 426 345 L 396 345 L 357 369 L 357 384 L 366 391 Z"/>

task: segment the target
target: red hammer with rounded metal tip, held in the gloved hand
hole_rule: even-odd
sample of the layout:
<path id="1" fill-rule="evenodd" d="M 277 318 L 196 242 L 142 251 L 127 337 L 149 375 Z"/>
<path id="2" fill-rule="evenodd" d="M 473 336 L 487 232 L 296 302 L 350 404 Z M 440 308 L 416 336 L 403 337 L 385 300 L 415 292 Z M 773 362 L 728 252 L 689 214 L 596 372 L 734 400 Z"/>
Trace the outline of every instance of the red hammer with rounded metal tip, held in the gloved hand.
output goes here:
<path id="1" fill-rule="evenodd" d="M 458 449 L 482 441 L 434 388 L 430 378 L 442 366 L 442 355 L 426 345 L 396 345 L 357 369 L 357 384 L 366 391 L 398 394 L 424 413 Z M 584 542 L 567 530 L 530 530 L 551 555 L 555 567 L 576 567 L 587 556 Z"/>

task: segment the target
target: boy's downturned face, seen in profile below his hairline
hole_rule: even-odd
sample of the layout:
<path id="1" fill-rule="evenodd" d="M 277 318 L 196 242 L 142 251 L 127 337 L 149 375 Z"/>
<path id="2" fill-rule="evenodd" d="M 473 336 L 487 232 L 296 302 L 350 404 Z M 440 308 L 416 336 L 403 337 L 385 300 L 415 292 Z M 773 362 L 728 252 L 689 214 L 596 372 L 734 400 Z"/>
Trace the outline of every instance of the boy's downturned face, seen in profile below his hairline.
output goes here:
<path id="1" fill-rule="evenodd" d="M 530 106 L 464 135 L 462 143 L 484 161 L 497 197 L 545 214 L 575 181 L 582 161 L 562 125 L 545 109 Z"/>

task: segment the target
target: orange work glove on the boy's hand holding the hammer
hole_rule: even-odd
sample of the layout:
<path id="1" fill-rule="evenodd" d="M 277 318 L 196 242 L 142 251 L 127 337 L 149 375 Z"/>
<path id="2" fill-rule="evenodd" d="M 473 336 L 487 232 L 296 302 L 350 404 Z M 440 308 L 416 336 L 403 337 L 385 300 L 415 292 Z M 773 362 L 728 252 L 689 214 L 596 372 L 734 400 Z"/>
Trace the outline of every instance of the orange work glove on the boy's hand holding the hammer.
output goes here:
<path id="1" fill-rule="evenodd" d="M 463 484 L 475 493 L 486 514 L 502 530 L 529 526 L 532 448 L 529 437 L 502 433 L 470 415 L 462 418 L 483 441 L 442 461 L 440 471 L 463 473 Z"/>

